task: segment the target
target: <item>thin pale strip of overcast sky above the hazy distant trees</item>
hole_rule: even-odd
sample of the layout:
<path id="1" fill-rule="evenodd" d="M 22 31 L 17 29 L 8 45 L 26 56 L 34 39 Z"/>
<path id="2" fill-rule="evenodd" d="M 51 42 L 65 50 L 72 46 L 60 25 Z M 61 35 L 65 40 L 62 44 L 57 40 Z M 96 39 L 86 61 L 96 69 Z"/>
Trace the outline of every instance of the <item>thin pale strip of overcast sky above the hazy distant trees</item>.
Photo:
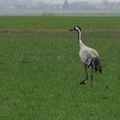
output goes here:
<path id="1" fill-rule="evenodd" d="M 40 1 L 44 1 L 46 3 L 63 3 L 64 0 L 40 0 Z M 68 2 L 74 2 L 74 1 L 89 1 L 89 2 L 101 2 L 103 0 L 67 0 Z M 112 1 L 112 2 L 117 2 L 117 1 L 120 1 L 120 0 L 108 0 L 108 1 Z"/>

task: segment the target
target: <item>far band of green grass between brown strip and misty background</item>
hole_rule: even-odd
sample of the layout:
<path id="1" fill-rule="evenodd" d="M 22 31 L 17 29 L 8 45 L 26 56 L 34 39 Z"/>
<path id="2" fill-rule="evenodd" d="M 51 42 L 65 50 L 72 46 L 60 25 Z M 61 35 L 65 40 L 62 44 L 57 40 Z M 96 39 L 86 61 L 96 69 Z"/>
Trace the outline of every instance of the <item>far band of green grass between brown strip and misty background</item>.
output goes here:
<path id="1" fill-rule="evenodd" d="M 69 29 L 80 25 L 84 29 L 119 29 L 120 17 L 18 17 L 1 16 L 0 28 Z"/>

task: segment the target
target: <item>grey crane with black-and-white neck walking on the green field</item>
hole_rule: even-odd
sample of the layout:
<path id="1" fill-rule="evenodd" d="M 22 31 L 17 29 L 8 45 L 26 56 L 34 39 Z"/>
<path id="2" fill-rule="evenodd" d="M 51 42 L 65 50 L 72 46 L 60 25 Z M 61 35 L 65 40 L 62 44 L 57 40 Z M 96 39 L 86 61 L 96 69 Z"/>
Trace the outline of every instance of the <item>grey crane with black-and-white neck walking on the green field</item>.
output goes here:
<path id="1" fill-rule="evenodd" d="M 78 43 L 80 46 L 79 56 L 81 58 L 81 61 L 85 67 L 85 74 L 86 77 L 80 81 L 80 85 L 85 85 L 86 80 L 88 80 L 88 71 L 87 69 L 91 67 L 91 87 L 92 87 L 92 79 L 93 79 L 93 70 L 95 72 L 99 71 L 102 73 L 101 64 L 99 61 L 99 55 L 96 50 L 93 48 L 90 48 L 86 46 L 82 40 L 81 40 L 81 27 L 75 26 L 73 29 L 70 29 L 70 31 L 76 31 L 78 33 Z"/>

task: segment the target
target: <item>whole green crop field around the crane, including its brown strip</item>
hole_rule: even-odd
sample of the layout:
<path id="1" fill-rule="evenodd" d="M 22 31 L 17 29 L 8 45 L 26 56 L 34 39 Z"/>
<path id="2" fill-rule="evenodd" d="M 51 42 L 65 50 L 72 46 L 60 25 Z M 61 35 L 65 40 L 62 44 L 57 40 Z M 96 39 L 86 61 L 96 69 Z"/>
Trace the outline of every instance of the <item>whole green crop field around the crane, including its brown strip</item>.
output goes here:
<path id="1" fill-rule="evenodd" d="M 100 55 L 92 88 L 75 25 Z M 0 120 L 119 120 L 119 52 L 120 17 L 1 16 Z"/>

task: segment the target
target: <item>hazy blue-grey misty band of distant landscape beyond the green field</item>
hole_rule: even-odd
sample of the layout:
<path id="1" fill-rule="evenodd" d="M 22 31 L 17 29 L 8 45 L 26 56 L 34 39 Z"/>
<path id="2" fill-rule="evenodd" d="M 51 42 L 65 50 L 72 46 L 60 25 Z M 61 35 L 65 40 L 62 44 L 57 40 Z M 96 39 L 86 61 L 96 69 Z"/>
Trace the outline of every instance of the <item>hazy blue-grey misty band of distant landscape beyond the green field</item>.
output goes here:
<path id="1" fill-rule="evenodd" d="M 120 0 L 0 0 L 0 15 L 120 15 Z"/>

